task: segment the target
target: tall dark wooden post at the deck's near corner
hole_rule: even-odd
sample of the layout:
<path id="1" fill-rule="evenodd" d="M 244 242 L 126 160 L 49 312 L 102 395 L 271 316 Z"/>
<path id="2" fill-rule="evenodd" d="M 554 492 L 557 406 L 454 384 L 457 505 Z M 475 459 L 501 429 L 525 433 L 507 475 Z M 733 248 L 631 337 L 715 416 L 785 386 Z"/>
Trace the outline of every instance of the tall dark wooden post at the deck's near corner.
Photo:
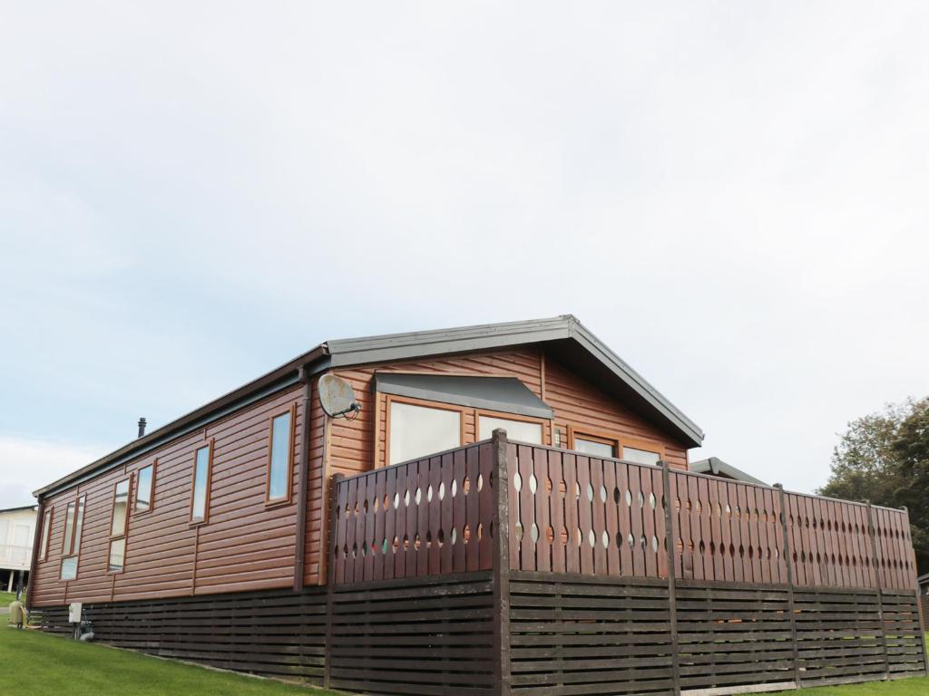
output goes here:
<path id="1" fill-rule="evenodd" d="M 493 677 L 495 693 L 510 693 L 510 476 L 506 431 L 498 428 L 491 439 L 493 449 Z"/>

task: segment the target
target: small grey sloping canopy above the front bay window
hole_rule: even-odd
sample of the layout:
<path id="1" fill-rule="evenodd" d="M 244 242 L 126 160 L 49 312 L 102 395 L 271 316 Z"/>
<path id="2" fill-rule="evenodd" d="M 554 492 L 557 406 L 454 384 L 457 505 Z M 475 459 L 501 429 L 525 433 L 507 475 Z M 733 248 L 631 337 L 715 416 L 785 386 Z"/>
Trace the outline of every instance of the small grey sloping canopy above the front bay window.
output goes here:
<path id="1" fill-rule="evenodd" d="M 487 408 L 536 418 L 552 418 L 552 408 L 515 377 L 458 377 L 378 372 L 374 392 L 412 396 L 443 404 Z"/>

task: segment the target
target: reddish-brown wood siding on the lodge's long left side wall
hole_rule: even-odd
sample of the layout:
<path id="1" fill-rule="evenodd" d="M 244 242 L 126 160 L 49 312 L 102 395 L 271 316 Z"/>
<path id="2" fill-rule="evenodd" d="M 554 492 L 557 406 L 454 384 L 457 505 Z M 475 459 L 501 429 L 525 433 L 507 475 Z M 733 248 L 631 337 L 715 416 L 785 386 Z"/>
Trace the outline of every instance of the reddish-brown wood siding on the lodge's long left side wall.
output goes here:
<path id="1" fill-rule="evenodd" d="M 301 442 L 300 390 L 268 397 L 46 501 L 54 509 L 46 561 L 38 561 L 33 605 L 177 597 L 291 586 L 295 493 L 265 504 L 270 418 L 294 404 L 294 492 Z M 190 524 L 194 452 L 214 442 L 207 522 Z M 155 464 L 154 504 L 133 509 L 137 470 Z M 133 477 L 124 571 L 108 573 L 113 487 Z M 317 483 L 319 487 L 319 483 Z M 86 496 L 76 579 L 62 582 L 61 543 L 69 502 Z"/>

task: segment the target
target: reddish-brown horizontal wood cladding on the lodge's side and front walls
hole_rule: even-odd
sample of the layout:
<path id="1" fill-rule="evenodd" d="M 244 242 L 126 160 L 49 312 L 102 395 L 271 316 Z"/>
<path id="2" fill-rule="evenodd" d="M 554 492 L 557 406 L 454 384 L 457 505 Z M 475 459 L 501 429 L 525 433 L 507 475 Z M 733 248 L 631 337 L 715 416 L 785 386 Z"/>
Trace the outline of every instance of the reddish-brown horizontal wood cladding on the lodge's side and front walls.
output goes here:
<path id="1" fill-rule="evenodd" d="M 364 410 L 354 420 L 325 419 L 312 380 L 304 583 L 320 584 L 325 577 L 321 554 L 325 534 L 326 482 L 335 472 L 352 475 L 386 463 L 386 394 L 373 398 L 376 370 L 432 374 L 516 377 L 555 411 L 554 430 L 567 445 L 570 427 L 581 431 L 615 433 L 636 442 L 663 448 L 673 467 L 687 467 L 686 445 L 675 441 L 635 415 L 595 385 L 572 374 L 541 349 L 528 347 L 503 352 L 461 354 L 336 370 L 352 382 Z M 295 496 L 286 504 L 266 501 L 270 419 L 294 408 L 294 466 L 291 489 L 299 476 L 302 388 L 294 387 L 267 400 L 181 437 L 129 464 L 81 483 L 77 489 L 53 496 L 46 507 L 56 509 L 49 534 L 48 555 L 39 561 L 33 601 L 60 603 L 81 599 L 147 599 L 208 592 L 247 591 L 284 587 L 293 583 L 297 535 Z M 464 408 L 464 444 L 478 438 L 478 411 Z M 328 421 L 328 422 L 327 422 Z M 546 444 L 553 433 L 543 428 Z M 194 452 L 215 439 L 208 522 L 190 525 L 191 471 Z M 156 463 L 152 509 L 129 511 L 125 567 L 107 574 L 112 486 Z M 77 577 L 59 580 L 64 509 L 78 493 L 87 495 L 83 543 Z"/>

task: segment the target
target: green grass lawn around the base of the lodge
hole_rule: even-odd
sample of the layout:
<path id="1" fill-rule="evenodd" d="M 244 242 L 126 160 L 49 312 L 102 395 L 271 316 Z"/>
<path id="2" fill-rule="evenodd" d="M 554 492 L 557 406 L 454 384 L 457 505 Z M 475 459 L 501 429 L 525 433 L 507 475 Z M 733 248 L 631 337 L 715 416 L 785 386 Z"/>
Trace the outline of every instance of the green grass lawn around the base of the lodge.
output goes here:
<path id="1" fill-rule="evenodd" d="M 11 600 L 11 599 L 10 599 Z M 10 600 L 0 598 L 5 606 Z M 335 696 L 339 692 L 291 686 L 270 679 L 216 672 L 104 645 L 7 627 L 0 616 L 5 693 L 17 696 Z M 783 691 L 793 696 L 926 696 L 929 677 L 843 687 Z"/>

